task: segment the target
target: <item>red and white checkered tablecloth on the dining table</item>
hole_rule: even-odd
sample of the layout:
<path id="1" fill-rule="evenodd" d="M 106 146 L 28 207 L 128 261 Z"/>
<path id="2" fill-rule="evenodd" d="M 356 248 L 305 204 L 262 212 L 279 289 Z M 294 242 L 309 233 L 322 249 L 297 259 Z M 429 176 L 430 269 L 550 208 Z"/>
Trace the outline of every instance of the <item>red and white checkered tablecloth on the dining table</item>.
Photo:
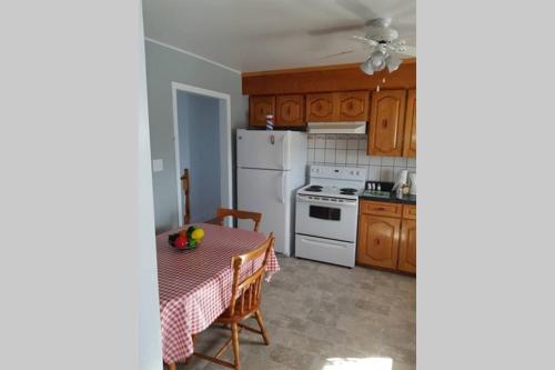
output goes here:
<path id="1" fill-rule="evenodd" d="M 231 257 L 256 249 L 266 236 L 261 232 L 196 224 L 204 229 L 201 244 L 181 251 L 168 243 L 168 236 L 184 228 L 157 236 L 158 282 L 162 352 L 165 363 L 182 362 L 193 353 L 191 334 L 206 329 L 228 308 L 233 270 Z M 253 272 L 262 263 L 246 264 L 241 273 Z M 272 250 L 266 271 L 279 271 Z"/>

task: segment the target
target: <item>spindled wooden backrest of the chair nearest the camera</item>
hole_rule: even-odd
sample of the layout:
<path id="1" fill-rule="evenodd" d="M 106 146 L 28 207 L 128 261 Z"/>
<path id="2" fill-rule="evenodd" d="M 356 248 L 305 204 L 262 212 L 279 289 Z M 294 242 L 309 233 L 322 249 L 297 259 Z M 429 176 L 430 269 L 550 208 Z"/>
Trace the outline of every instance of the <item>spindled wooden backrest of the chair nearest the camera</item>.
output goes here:
<path id="1" fill-rule="evenodd" d="M 274 247 L 275 238 L 273 232 L 268 237 L 264 243 L 253 251 L 244 254 L 233 256 L 231 266 L 233 268 L 233 286 L 231 291 L 231 316 L 246 316 L 259 309 L 262 297 L 262 279 L 268 264 L 268 258 Z M 241 280 L 241 268 L 251 261 L 254 261 L 264 254 L 262 264 L 253 273 Z"/>

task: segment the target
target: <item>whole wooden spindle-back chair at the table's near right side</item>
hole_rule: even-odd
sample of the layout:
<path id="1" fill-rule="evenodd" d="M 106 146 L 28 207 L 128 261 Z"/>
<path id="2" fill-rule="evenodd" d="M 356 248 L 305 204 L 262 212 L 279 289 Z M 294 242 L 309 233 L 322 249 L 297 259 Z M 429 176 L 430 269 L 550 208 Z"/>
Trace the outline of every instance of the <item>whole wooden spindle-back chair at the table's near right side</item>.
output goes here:
<path id="1" fill-rule="evenodd" d="M 231 324 L 231 338 L 223 344 L 222 348 L 220 348 L 214 357 L 199 352 L 194 352 L 194 356 L 228 368 L 241 370 L 241 362 L 239 359 L 239 333 L 242 329 L 261 334 L 264 339 L 264 343 L 266 346 L 270 344 L 266 330 L 264 329 L 264 322 L 262 321 L 262 314 L 260 313 L 260 301 L 262 297 L 262 280 L 264 278 L 268 257 L 274 247 L 274 242 L 275 238 L 273 233 L 271 233 L 260 248 L 244 254 L 232 257 L 231 266 L 233 268 L 233 284 L 230 307 L 215 320 L 215 322 L 222 323 L 225 327 Z M 249 277 L 240 281 L 241 267 L 258 259 L 262 254 L 264 254 L 262 266 L 254 273 L 251 273 Z M 260 329 L 254 329 L 242 323 L 242 321 L 252 316 L 256 318 Z M 233 344 L 234 363 L 220 359 L 230 344 Z"/>

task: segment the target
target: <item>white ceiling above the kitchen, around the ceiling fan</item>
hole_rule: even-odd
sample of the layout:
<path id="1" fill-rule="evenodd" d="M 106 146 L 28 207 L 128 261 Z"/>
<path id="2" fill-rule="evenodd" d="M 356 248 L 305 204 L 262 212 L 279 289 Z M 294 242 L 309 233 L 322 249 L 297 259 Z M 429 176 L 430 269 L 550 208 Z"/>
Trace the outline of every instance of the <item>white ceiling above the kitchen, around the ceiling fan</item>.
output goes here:
<path id="1" fill-rule="evenodd" d="M 364 28 L 344 28 L 377 17 L 416 46 L 416 0 L 143 0 L 143 9 L 148 39 L 243 72 L 361 62 L 367 52 L 351 36 Z"/>

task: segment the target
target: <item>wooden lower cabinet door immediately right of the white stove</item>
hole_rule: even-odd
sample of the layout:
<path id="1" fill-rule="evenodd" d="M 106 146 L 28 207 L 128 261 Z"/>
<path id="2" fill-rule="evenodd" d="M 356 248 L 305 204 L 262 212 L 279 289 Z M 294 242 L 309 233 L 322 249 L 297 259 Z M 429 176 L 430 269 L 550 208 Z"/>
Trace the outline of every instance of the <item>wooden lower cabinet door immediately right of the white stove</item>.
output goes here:
<path id="1" fill-rule="evenodd" d="M 370 266 L 396 269 L 400 229 L 400 219 L 361 214 L 356 261 Z"/>

